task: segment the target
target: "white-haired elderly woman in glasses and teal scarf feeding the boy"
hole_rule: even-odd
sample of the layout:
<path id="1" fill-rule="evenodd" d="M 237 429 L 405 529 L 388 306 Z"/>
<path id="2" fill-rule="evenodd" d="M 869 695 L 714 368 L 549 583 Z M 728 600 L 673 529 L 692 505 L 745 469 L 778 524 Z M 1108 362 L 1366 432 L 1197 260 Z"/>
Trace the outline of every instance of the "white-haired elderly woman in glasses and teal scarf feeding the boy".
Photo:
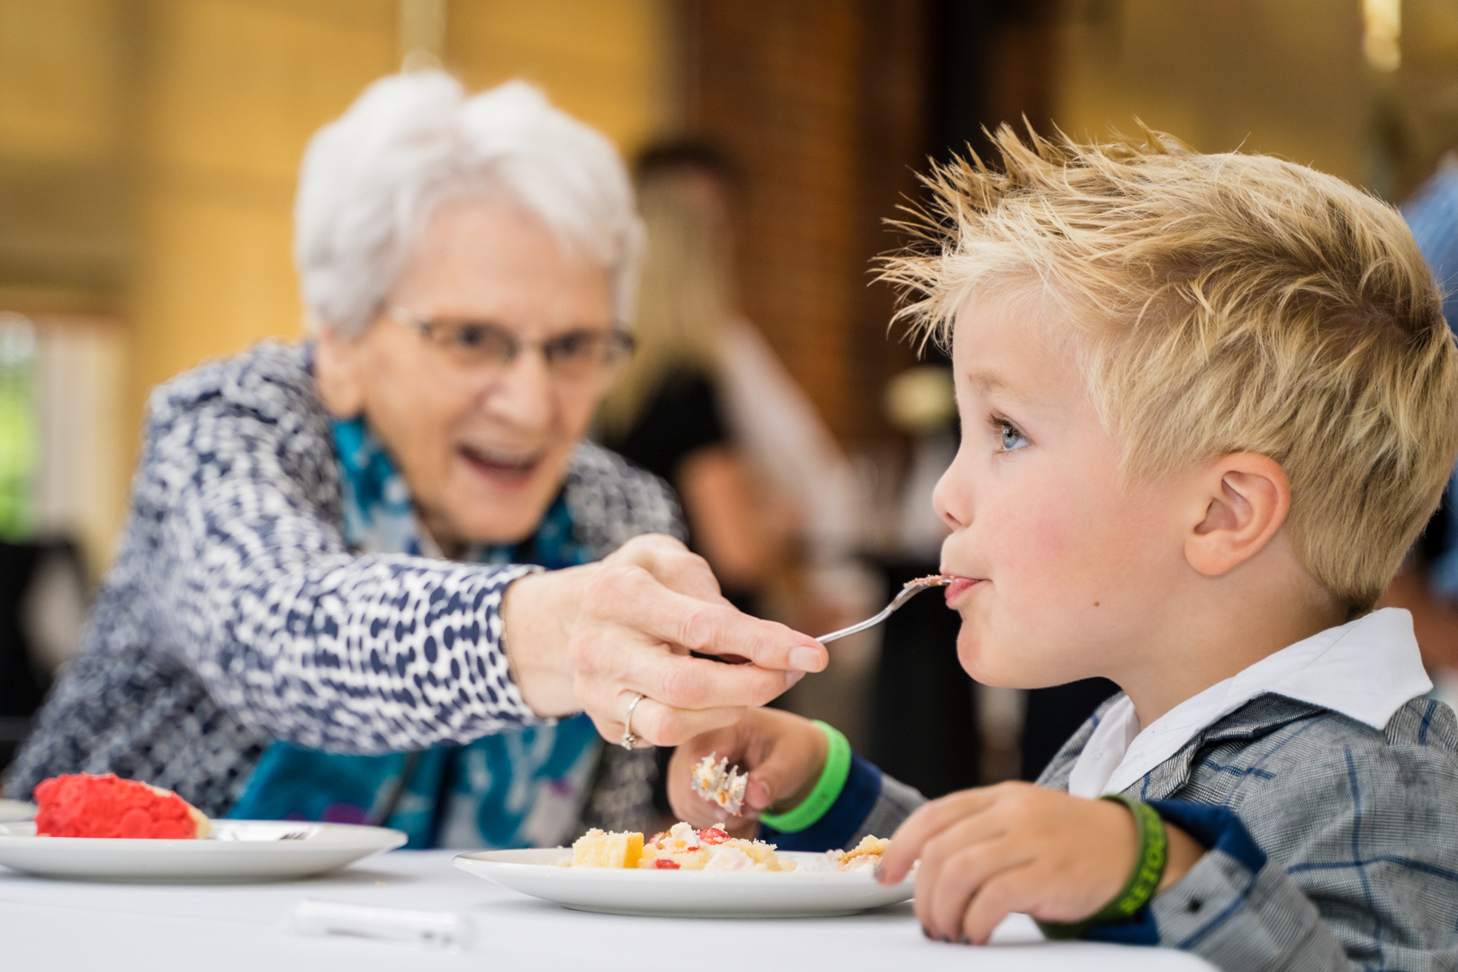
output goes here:
<path id="1" fill-rule="evenodd" d="M 296 216 L 312 340 L 153 395 L 117 563 L 7 793 L 112 771 L 416 847 L 647 823 L 636 742 L 827 659 L 729 608 L 663 484 L 582 442 L 631 348 L 620 157 L 526 85 L 389 77 L 313 138 Z"/>

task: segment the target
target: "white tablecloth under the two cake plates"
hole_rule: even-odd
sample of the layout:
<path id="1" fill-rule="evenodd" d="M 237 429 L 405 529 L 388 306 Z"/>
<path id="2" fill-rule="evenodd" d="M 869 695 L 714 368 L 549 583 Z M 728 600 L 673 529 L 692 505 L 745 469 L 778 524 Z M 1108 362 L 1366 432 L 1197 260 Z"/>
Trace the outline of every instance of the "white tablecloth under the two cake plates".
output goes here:
<path id="1" fill-rule="evenodd" d="M 984 949 L 921 937 L 910 902 L 850 918 L 693 921 L 566 911 L 472 877 L 452 851 L 397 851 L 280 885 L 99 885 L 0 869 L 0 968 L 104 972 L 334 969 L 1210 969 L 1161 949 L 1045 943 L 1009 918 Z M 448 953 L 289 928 L 300 901 L 464 915 L 474 941 Z M 703 956 L 694 960 L 693 956 Z"/>

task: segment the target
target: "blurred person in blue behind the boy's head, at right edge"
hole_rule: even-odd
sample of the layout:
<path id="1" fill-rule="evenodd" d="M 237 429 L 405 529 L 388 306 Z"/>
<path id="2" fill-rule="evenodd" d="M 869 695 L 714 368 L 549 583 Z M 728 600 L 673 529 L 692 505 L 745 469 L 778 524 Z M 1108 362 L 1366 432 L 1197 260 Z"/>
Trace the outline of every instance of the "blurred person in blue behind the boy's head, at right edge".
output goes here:
<path id="1" fill-rule="evenodd" d="M 1443 293 L 1443 316 L 1458 328 L 1458 153 L 1442 157 L 1438 171 L 1403 204 L 1423 258 Z M 1458 707 L 1458 507 L 1448 482 L 1443 503 L 1382 597 L 1384 606 L 1407 608 L 1433 679 L 1435 694 Z"/>

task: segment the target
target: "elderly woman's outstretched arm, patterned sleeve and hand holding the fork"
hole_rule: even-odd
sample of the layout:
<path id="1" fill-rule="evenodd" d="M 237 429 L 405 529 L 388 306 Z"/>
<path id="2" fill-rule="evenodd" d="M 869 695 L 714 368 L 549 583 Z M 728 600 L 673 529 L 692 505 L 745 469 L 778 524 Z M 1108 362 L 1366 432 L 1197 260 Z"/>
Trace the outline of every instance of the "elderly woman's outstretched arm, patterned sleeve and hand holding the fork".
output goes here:
<path id="1" fill-rule="evenodd" d="M 274 739 L 386 752 L 582 710 L 617 739 L 643 694 L 634 730 L 672 745 L 825 665 L 812 638 L 723 603 L 703 560 L 662 536 L 532 579 L 509 630 L 503 595 L 531 568 L 351 555 L 327 434 L 303 427 L 316 405 L 258 377 L 223 388 L 155 401 L 134 482 L 149 529 L 130 542 L 156 546 L 159 647 Z"/>

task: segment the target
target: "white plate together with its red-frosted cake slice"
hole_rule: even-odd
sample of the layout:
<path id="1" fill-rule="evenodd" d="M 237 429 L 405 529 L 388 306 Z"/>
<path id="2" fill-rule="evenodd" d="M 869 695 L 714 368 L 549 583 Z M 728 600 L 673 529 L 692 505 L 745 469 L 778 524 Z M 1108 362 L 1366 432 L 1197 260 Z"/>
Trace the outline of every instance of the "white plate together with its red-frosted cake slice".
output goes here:
<path id="1" fill-rule="evenodd" d="M 70 774 L 35 787 L 35 820 L 0 823 L 0 866 L 41 877 L 258 882 L 322 874 L 401 847 L 379 826 L 210 820 L 171 790 Z"/>

